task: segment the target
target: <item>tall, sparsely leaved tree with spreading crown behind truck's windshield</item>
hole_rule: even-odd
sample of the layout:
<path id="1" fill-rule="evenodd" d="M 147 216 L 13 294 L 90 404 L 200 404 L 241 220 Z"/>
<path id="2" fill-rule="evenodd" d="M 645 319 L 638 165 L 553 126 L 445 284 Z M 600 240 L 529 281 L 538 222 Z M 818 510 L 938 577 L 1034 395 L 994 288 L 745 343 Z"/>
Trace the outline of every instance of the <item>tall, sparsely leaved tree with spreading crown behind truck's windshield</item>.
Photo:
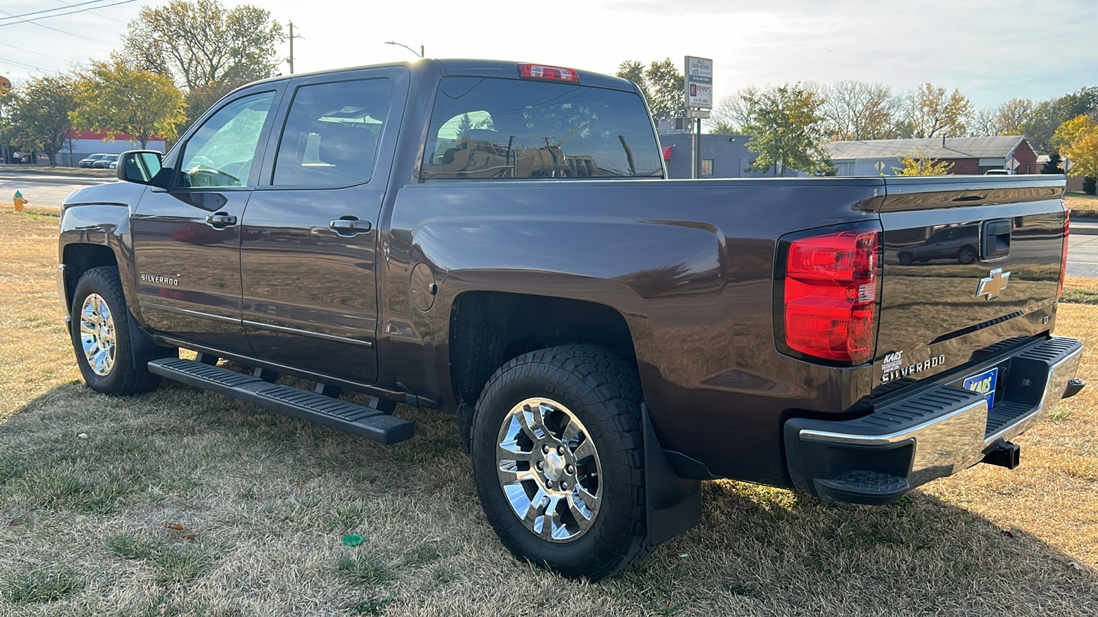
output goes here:
<path id="1" fill-rule="evenodd" d="M 114 59 L 183 88 L 190 124 L 234 88 L 276 75 L 284 40 L 282 25 L 266 9 L 171 0 L 141 10 Z"/>

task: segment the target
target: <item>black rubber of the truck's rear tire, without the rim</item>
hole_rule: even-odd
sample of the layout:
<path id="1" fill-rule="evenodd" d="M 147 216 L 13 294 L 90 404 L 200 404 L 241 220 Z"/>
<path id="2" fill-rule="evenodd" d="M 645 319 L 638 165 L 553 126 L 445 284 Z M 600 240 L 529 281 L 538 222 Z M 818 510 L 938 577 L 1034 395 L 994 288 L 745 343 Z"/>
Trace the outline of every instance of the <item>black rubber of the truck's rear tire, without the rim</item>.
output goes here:
<path id="1" fill-rule="evenodd" d="M 567 406 L 582 423 L 597 452 L 595 460 L 601 461 L 597 509 L 590 527 L 574 539 L 550 541 L 528 529 L 501 483 L 496 447 L 502 423 L 516 405 L 533 397 Z M 492 375 L 472 422 L 473 478 L 489 523 L 515 557 L 565 576 L 598 581 L 648 556 L 641 400 L 636 368 L 595 347 L 531 351 Z M 580 482 L 580 464 L 573 490 Z M 533 471 L 533 464 L 528 469 Z M 561 508 L 568 508 L 567 502 Z"/>

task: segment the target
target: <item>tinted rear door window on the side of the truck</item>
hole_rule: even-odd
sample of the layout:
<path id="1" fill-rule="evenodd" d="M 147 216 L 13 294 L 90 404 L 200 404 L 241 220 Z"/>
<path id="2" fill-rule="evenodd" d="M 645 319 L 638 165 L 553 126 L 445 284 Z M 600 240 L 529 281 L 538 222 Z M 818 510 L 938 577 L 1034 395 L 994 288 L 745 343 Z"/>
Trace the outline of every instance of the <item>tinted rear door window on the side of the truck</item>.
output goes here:
<path id="1" fill-rule="evenodd" d="M 373 176 L 389 79 L 302 86 L 279 138 L 273 184 L 339 186 Z"/>

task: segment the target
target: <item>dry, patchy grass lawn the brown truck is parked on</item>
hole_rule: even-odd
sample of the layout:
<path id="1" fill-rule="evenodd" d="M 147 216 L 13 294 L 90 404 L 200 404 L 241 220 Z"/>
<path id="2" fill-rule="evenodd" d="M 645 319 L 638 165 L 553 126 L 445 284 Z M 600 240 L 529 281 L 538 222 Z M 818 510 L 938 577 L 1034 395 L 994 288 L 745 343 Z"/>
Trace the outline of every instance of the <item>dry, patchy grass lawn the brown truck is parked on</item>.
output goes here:
<path id="1" fill-rule="evenodd" d="M 384 447 L 179 384 L 86 389 L 56 227 L 0 212 L 0 615 L 1098 615 L 1095 386 L 1020 469 L 890 506 L 706 482 L 698 527 L 592 585 L 496 540 L 451 416 L 401 407 L 416 437 Z M 1057 321 L 1098 348 L 1098 306 Z"/>

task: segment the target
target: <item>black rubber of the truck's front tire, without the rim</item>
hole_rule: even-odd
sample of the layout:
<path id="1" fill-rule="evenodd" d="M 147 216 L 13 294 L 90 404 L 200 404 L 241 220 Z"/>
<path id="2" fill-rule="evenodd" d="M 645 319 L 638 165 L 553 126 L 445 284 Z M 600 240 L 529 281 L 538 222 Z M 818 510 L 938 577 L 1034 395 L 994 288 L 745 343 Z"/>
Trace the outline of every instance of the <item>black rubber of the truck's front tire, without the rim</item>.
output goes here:
<path id="1" fill-rule="evenodd" d="M 85 301 L 92 294 L 98 294 L 107 304 L 114 325 L 113 364 L 105 374 L 99 374 L 92 369 L 83 350 L 80 332 L 81 311 Z M 160 385 L 160 377 L 148 372 L 145 362 L 134 354 L 134 346 L 130 340 L 130 311 L 122 293 L 117 268 L 92 268 L 80 277 L 72 294 L 72 324 L 69 329 L 76 362 L 88 388 L 103 394 L 124 396 L 149 392 Z"/>

